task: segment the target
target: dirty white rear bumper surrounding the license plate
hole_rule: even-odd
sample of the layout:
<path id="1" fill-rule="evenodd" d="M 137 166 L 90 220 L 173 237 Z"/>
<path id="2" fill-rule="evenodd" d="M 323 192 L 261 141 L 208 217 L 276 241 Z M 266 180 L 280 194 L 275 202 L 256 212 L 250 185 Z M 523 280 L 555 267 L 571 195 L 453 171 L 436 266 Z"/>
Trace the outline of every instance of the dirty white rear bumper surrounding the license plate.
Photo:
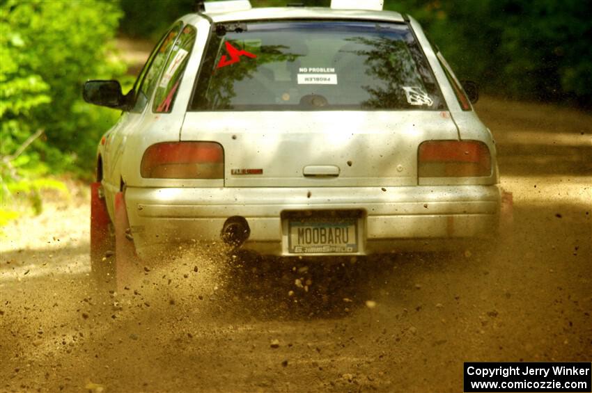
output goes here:
<path id="1" fill-rule="evenodd" d="M 285 211 L 358 210 L 358 255 L 448 248 L 497 232 L 497 186 L 334 188 L 127 188 L 127 214 L 139 256 L 186 241 L 220 241 L 227 218 L 242 216 L 251 235 L 244 248 L 293 255 Z"/>

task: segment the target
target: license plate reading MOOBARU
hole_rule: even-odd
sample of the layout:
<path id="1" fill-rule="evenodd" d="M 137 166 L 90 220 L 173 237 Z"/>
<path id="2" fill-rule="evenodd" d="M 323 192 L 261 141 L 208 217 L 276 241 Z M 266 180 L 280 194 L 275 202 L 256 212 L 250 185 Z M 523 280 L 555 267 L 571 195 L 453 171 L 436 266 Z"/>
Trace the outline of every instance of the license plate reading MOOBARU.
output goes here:
<path id="1" fill-rule="evenodd" d="M 294 254 L 358 252 L 358 220 L 306 218 L 288 221 L 288 248 Z"/>

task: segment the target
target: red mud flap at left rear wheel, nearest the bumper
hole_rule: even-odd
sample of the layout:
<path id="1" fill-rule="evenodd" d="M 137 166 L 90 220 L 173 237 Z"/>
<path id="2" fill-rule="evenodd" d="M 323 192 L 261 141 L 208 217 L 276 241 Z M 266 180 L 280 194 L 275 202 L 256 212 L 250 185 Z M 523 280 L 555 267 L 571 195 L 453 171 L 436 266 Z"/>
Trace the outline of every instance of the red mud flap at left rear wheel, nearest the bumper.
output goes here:
<path id="1" fill-rule="evenodd" d="M 139 271 L 139 265 L 121 192 L 115 194 L 115 260 L 117 290 L 122 291 L 132 281 L 134 273 Z"/>

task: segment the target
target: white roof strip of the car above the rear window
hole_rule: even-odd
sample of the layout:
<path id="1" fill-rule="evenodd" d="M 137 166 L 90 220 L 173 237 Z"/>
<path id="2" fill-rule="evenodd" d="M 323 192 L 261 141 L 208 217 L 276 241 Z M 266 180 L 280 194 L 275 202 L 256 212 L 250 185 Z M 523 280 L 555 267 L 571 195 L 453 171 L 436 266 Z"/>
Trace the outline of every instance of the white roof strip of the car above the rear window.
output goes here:
<path id="1" fill-rule="evenodd" d="M 357 19 L 404 22 L 403 15 L 392 11 L 334 10 L 321 7 L 251 8 L 225 13 L 202 13 L 213 22 L 247 21 L 258 19 Z"/>

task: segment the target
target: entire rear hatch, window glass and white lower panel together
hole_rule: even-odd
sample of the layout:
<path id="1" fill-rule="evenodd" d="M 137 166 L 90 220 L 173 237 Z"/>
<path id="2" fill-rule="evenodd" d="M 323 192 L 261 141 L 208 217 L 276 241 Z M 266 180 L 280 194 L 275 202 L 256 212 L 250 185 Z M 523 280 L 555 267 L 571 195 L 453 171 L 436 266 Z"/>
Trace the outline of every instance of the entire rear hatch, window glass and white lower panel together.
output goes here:
<path id="1" fill-rule="evenodd" d="M 417 149 L 456 139 L 403 22 L 216 24 L 182 141 L 224 150 L 224 185 L 417 184 Z"/>

